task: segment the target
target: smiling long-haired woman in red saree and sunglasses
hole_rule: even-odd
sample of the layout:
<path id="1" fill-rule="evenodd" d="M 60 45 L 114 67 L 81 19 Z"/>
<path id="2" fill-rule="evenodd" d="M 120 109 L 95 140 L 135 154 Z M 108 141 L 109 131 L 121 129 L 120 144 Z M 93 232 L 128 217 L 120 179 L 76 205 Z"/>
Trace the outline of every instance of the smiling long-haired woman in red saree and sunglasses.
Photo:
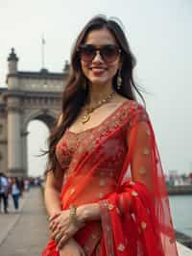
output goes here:
<path id="1" fill-rule="evenodd" d="M 43 256 L 178 255 L 153 128 L 135 100 L 135 60 L 114 20 L 77 38 L 50 137 Z"/>

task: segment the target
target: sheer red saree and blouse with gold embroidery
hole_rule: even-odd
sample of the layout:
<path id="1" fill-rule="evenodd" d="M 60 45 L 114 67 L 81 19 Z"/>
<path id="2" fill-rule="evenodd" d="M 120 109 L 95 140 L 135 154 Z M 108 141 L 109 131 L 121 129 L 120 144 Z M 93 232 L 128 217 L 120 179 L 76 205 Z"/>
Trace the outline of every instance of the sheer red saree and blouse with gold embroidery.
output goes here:
<path id="1" fill-rule="evenodd" d="M 65 171 L 62 210 L 98 202 L 101 220 L 74 238 L 87 256 L 177 256 L 175 232 L 153 127 L 127 100 L 98 126 L 66 130 L 57 145 Z M 50 241 L 43 256 L 59 256 Z"/>

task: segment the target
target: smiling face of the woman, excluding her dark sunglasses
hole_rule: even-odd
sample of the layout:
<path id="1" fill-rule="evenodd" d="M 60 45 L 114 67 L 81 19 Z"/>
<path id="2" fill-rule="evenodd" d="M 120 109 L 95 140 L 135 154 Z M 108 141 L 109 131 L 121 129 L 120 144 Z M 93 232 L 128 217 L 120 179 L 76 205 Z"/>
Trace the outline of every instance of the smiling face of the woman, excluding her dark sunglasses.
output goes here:
<path id="1" fill-rule="evenodd" d="M 91 31 L 84 41 L 84 45 L 87 44 L 93 45 L 97 49 L 101 49 L 103 46 L 106 45 L 117 46 L 118 48 L 116 39 L 106 28 Z M 92 85 L 111 86 L 112 79 L 117 73 L 120 64 L 121 63 L 119 52 L 115 60 L 109 63 L 102 58 L 99 51 L 96 51 L 96 55 L 94 56 L 92 61 L 87 62 L 83 60 L 83 57 L 81 58 L 81 65 L 84 76 L 89 80 Z"/>

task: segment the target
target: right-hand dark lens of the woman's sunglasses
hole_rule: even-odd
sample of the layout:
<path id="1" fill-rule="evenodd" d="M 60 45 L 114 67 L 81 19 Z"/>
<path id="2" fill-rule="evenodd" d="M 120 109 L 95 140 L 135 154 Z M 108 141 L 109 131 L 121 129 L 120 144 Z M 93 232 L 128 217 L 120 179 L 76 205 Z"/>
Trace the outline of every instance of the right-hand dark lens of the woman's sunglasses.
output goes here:
<path id="1" fill-rule="evenodd" d="M 119 55 L 119 48 L 116 45 L 106 45 L 101 49 L 101 55 L 105 62 L 114 62 Z"/>

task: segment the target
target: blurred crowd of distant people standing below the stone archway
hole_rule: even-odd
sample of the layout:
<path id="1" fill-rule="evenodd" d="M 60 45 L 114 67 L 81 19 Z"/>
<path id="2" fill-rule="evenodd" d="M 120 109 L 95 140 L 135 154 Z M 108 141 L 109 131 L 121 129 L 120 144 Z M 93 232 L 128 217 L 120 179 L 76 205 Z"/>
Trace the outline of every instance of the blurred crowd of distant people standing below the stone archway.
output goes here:
<path id="1" fill-rule="evenodd" d="M 32 185 L 38 185 L 38 179 L 8 177 L 0 172 L 0 213 L 9 214 L 12 200 L 14 212 L 19 211 L 19 200 L 23 192 L 30 190 Z"/>

